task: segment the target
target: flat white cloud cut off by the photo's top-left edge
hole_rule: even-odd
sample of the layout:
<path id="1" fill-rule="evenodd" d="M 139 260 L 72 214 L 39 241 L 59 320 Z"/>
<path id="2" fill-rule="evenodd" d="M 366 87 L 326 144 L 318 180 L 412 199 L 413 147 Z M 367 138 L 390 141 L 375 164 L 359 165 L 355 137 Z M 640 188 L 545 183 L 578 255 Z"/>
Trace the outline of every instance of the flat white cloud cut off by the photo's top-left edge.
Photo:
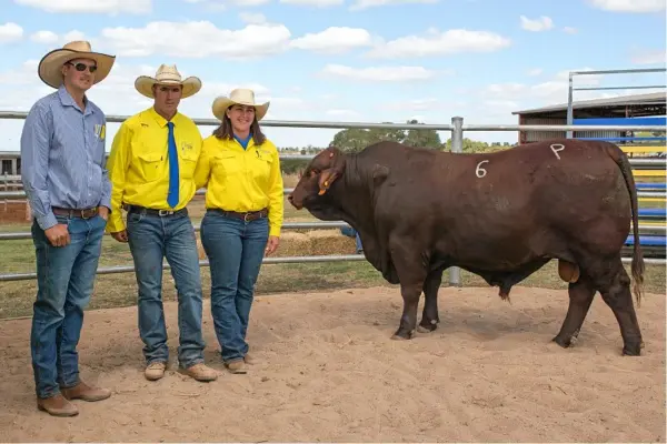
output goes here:
<path id="1" fill-rule="evenodd" d="M 145 14 L 152 10 L 152 0 L 14 0 L 14 3 L 47 12 L 67 13 Z"/>

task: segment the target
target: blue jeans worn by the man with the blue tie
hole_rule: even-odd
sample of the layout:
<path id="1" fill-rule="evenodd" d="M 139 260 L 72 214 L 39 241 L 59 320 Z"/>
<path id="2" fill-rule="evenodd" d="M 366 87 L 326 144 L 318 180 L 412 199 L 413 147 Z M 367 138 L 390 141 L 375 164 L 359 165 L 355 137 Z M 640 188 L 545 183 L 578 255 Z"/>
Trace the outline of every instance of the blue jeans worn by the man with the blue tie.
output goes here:
<path id="1" fill-rule="evenodd" d="M 195 228 L 187 213 L 158 216 L 130 211 L 128 243 L 139 289 L 139 335 L 147 365 L 167 362 L 162 306 L 162 259 L 171 265 L 178 295 L 178 361 L 182 369 L 203 362 L 201 278 Z"/>

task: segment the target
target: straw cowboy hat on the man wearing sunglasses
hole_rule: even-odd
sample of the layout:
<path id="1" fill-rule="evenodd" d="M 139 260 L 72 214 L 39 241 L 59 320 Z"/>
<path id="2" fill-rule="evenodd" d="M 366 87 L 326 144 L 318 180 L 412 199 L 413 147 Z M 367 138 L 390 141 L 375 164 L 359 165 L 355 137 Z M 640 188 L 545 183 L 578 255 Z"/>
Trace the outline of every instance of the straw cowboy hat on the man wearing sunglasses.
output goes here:
<path id="1" fill-rule="evenodd" d="M 109 75 L 116 56 L 93 52 L 90 43 L 84 40 L 76 40 L 66 43 L 62 48 L 50 51 L 39 62 L 37 71 L 39 78 L 49 87 L 58 89 L 62 84 L 61 68 L 72 59 L 92 59 L 97 63 L 93 83 L 99 83 Z"/>

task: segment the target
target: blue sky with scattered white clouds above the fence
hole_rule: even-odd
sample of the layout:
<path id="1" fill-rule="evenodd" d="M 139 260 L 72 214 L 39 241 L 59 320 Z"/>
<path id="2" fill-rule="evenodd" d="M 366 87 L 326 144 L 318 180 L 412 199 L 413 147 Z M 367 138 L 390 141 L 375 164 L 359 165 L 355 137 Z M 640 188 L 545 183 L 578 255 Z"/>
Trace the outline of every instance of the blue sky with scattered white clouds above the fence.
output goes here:
<path id="1" fill-rule="evenodd" d="M 27 111 L 49 93 L 39 59 L 86 39 L 117 54 L 111 75 L 89 92 L 107 114 L 150 107 L 135 78 L 176 63 L 203 82 L 181 102 L 192 118 L 212 118 L 217 95 L 251 87 L 271 101 L 271 120 L 449 123 L 462 115 L 514 124 L 512 111 L 567 101 L 568 71 L 664 68 L 666 1 L 0 0 L 0 110 Z M 664 83 L 663 73 L 577 79 Z M 647 91 L 575 99 L 637 92 Z M 19 149 L 21 124 L 0 120 L 0 150 Z M 266 129 L 279 147 L 326 145 L 336 131 Z M 514 132 L 467 135 L 517 140 Z"/>

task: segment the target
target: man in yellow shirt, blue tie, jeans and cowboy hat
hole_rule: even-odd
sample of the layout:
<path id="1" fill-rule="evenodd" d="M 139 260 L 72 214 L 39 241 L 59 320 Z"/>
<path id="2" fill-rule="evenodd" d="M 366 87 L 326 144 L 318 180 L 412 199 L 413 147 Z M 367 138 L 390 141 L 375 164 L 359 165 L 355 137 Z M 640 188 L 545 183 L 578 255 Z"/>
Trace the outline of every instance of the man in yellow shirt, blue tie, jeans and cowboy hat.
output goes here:
<path id="1" fill-rule="evenodd" d="M 196 94 L 201 81 L 181 79 L 176 65 L 160 65 L 155 78 L 141 75 L 137 90 L 155 100 L 151 108 L 126 120 L 113 139 L 108 169 L 111 216 L 108 231 L 129 242 L 139 287 L 139 333 L 149 381 L 165 375 L 169 350 L 162 309 L 162 258 L 171 265 L 178 291 L 180 371 L 213 381 L 203 364 L 201 279 L 195 229 L 186 205 L 197 186 L 193 174 L 201 151 L 199 129 L 178 112 L 181 99 Z M 127 226 L 121 208 L 128 211 Z"/>

